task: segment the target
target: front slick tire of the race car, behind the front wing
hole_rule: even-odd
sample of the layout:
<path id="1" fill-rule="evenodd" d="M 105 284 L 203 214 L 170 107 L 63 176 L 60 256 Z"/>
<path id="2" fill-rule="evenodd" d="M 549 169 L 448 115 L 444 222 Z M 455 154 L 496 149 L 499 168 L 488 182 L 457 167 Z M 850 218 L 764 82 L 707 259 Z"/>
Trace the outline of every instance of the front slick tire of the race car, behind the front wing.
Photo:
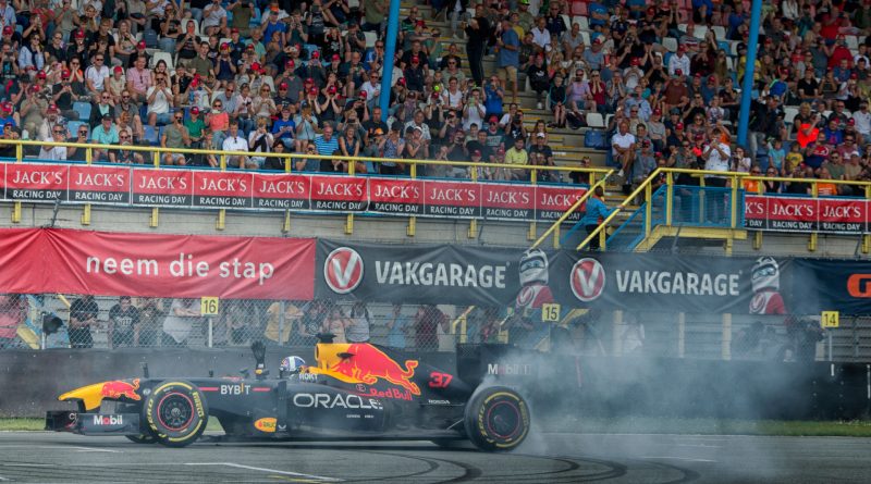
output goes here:
<path id="1" fill-rule="evenodd" d="M 203 393 L 192 383 L 181 380 L 155 386 L 146 397 L 143 413 L 157 442 L 168 447 L 193 444 L 209 421 Z"/>

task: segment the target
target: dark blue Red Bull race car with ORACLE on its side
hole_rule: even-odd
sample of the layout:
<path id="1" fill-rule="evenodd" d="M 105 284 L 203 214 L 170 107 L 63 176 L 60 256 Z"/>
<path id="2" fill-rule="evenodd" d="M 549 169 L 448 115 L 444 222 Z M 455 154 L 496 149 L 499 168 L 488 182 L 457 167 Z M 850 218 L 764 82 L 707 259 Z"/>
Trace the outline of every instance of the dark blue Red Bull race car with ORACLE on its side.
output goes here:
<path id="1" fill-rule="evenodd" d="M 289 357 L 278 377 L 255 344 L 255 377 L 159 380 L 146 368 L 142 378 L 84 386 L 58 397 L 78 409 L 48 411 L 46 430 L 184 447 L 216 418 L 233 439 L 468 439 L 491 451 L 516 448 L 529 432 L 529 406 L 511 387 L 470 384 L 390 348 L 329 340 L 317 344 L 315 365 Z M 107 400 L 113 411 L 101 411 Z"/>

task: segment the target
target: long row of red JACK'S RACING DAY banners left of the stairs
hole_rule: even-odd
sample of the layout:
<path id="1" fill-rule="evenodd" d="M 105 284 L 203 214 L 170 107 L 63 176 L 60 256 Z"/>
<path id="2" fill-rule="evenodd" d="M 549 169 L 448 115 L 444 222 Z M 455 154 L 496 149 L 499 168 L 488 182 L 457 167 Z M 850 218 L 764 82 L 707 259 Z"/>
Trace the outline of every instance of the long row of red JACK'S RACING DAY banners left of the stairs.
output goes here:
<path id="1" fill-rule="evenodd" d="M 549 222 L 581 186 L 311 173 L 0 163 L 3 200 Z M 584 213 L 575 211 L 567 222 Z"/>

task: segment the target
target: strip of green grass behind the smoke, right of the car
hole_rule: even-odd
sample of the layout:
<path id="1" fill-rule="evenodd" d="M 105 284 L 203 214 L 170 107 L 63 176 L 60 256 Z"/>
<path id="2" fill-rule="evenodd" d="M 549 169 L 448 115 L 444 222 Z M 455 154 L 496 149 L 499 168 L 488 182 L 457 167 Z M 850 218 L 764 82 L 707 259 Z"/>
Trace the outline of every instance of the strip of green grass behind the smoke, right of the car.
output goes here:
<path id="1" fill-rule="evenodd" d="M 562 422 L 559 426 L 543 424 L 550 431 L 605 434 L 720 434 L 780 436 L 871 437 L 871 421 L 815 422 L 778 420 L 715 420 L 715 419 L 581 419 Z"/>

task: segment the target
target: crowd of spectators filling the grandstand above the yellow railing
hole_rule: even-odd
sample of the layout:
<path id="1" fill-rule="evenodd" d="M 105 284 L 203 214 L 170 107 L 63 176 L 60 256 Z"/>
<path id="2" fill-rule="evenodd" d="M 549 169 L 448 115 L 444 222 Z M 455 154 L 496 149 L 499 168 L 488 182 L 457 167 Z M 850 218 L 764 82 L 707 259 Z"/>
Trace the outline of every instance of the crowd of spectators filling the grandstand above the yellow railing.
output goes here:
<path id="1" fill-rule="evenodd" d="M 389 0 L 0 0 L 0 125 L 4 138 L 258 153 L 230 157 L 248 169 L 285 169 L 272 152 L 378 157 L 396 161 L 355 169 L 396 175 L 408 171 L 405 159 L 552 166 L 550 129 L 605 120 L 603 148 L 626 185 L 657 166 L 871 179 L 871 1 L 765 2 L 750 136 L 736 147 L 748 5 L 432 0 L 403 14 L 395 59 L 385 60 Z M 445 32 L 428 25 L 441 17 Z M 543 120 L 525 121 L 522 91 Z M 145 161 L 124 149 L 94 154 Z M 46 146 L 37 156 L 85 152 Z M 162 162 L 219 159 L 165 153 Z M 434 166 L 426 175 L 470 173 Z M 529 172 L 477 175 L 522 181 Z M 806 188 L 797 185 L 777 189 Z"/>

